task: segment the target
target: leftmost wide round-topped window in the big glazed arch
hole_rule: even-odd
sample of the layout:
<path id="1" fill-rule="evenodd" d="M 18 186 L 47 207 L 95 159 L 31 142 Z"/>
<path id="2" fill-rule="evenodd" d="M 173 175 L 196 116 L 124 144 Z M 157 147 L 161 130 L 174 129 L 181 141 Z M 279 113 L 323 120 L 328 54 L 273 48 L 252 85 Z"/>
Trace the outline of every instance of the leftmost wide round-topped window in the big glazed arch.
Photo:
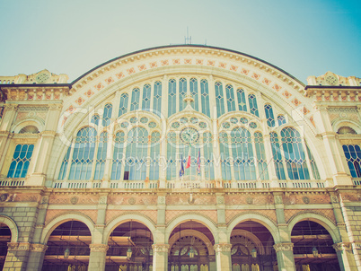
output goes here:
<path id="1" fill-rule="evenodd" d="M 69 179 L 91 179 L 96 136 L 93 127 L 84 127 L 76 134 Z"/>

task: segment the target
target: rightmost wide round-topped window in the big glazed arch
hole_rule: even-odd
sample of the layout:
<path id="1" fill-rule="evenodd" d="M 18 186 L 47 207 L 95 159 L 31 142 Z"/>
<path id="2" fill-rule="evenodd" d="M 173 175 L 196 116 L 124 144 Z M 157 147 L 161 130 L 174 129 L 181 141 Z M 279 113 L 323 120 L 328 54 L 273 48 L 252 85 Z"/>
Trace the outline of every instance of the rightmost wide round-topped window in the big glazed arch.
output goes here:
<path id="1" fill-rule="evenodd" d="M 286 127 L 281 130 L 281 138 L 288 178 L 310 179 L 300 133 L 293 127 Z"/>

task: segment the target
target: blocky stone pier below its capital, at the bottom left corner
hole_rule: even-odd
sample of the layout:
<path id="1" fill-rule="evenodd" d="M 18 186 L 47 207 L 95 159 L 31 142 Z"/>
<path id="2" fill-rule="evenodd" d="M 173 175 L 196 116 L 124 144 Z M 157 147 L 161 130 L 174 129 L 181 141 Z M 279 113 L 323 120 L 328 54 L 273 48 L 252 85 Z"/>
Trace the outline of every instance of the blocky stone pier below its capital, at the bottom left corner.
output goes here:
<path id="1" fill-rule="evenodd" d="M 25 271 L 28 264 L 29 250 L 31 244 L 28 242 L 7 243 L 7 254 L 3 271 Z"/>

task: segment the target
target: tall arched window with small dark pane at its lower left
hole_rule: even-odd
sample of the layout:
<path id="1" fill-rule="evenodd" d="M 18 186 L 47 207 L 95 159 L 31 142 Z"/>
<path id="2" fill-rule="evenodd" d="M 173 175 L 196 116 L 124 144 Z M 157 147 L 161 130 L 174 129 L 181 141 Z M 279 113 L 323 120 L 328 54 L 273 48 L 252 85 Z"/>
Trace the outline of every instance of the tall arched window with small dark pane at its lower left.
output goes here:
<path id="1" fill-rule="evenodd" d="M 147 152 L 148 132 L 144 127 L 134 127 L 128 132 L 124 176 L 128 175 L 128 179 L 133 180 L 144 180 L 146 178 Z"/>

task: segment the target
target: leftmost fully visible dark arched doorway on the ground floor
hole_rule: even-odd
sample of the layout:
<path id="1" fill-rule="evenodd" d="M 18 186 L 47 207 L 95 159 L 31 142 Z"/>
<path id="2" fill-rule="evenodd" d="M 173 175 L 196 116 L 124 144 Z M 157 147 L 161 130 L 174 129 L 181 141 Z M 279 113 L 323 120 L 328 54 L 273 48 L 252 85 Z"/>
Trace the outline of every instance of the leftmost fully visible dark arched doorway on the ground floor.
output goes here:
<path id="1" fill-rule="evenodd" d="M 51 232 L 42 270 L 86 271 L 89 265 L 92 235 L 79 221 L 62 223 Z"/>

